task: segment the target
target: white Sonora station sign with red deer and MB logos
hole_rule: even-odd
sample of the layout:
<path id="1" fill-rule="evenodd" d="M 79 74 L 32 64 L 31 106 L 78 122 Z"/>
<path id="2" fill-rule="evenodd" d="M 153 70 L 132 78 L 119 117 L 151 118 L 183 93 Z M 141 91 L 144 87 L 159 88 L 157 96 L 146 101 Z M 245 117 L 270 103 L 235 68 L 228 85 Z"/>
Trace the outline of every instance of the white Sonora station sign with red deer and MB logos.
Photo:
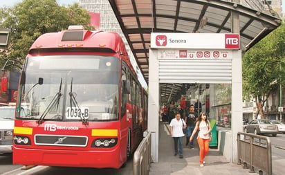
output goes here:
<path id="1" fill-rule="evenodd" d="M 151 33 L 151 48 L 239 49 L 235 33 Z"/>

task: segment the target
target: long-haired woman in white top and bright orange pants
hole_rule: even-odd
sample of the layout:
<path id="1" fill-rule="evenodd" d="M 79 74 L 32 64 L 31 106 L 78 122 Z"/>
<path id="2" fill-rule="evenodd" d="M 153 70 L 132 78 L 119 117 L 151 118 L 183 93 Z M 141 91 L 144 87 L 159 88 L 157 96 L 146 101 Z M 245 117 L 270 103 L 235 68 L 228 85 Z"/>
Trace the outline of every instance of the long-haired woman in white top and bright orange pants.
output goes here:
<path id="1" fill-rule="evenodd" d="M 199 130 L 199 134 L 197 136 L 197 141 L 199 145 L 199 156 L 200 156 L 200 167 L 204 166 L 205 156 L 209 152 L 209 133 L 211 132 L 210 122 L 205 113 L 200 113 L 198 120 L 196 121 L 196 125 L 194 131 L 190 137 L 190 142 L 193 140 L 193 136 L 196 131 Z"/>

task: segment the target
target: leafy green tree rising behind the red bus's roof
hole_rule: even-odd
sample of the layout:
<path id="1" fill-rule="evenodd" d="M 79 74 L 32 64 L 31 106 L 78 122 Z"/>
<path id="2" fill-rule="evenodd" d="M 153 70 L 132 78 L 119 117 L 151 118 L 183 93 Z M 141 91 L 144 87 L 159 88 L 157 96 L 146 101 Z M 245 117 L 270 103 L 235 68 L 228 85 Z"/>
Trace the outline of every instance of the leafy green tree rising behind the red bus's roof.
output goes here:
<path id="1" fill-rule="evenodd" d="M 23 63 L 30 46 L 44 33 L 66 30 L 70 25 L 93 29 L 88 26 L 89 13 L 77 3 L 64 7 L 55 0 L 23 0 L 12 8 L 0 8 L 0 19 L 0 28 L 11 30 L 8 49 L 0 53 L 1 66 L 8 58 Z"/>

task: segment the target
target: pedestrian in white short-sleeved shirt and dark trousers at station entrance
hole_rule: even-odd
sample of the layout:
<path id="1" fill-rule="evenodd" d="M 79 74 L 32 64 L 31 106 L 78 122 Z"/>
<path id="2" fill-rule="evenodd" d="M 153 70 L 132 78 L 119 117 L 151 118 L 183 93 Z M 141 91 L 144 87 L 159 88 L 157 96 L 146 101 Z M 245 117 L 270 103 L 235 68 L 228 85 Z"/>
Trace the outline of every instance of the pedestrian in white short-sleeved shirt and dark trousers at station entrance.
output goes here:
<path id="1" fill-rule="evenodd" d="M 183 129 L 186 128 L 186 123 L 181 118 L 179 112 L 176 112 L 175 118 L 173 118 L 169 124 L 170 134 L 174 140 L 174 156 L 179 154 L 179 158 L 183 158 L 183 145 L 182 140 L 184 137 Z"/>

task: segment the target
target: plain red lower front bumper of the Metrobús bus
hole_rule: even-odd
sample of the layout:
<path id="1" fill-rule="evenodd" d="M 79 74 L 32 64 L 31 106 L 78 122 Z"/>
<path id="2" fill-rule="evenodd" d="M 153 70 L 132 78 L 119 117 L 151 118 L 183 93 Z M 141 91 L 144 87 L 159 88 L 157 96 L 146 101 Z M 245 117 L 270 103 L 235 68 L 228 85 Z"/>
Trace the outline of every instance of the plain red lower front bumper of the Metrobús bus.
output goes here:
<path id="1" fill-rule="evenodd" d="M 22 149 L 13 147 L 13 164 L 59 167 L 120 168 L 127 160 L 120 160 L 120 150 L 77 151 L 57 149 Z"/>

